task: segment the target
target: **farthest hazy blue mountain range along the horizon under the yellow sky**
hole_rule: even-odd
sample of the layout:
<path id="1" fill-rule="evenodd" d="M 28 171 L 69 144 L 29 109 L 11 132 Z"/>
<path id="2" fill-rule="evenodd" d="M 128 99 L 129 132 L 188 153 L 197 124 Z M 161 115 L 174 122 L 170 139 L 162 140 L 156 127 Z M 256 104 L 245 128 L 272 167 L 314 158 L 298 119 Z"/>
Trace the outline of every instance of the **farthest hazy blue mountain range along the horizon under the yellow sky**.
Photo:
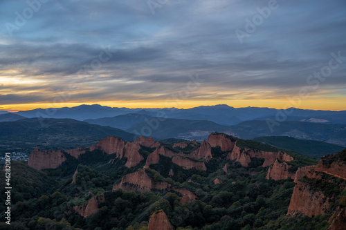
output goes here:
<path id="1" fill-rule="evenodd" d="M 288 108 L 286 111 L 278 111 L 275 108 L 233 108 L 220 104 L 216 106 L 199 106 L 195 108 L 116 108 L 108 106 L 81 105 L 72 108 L 37 108 L 31 111 L 20 111 L 17 115 L 28 118 L 71 118 L 77 120 L 99 119 L 103 117 L 116 117 L 129 113 L 138 113 L 152 117 L 165 116 L 175 119 L 208 120 L 224 126 L 239 124 L 253 119 L 276 119 L 285 117 L 285 121 L 326 122 L 329 124 L 346 124 L 346 111 L 313 111 L 300 108 Z M 1 114 L 1 113 L 0 113 Z"/>

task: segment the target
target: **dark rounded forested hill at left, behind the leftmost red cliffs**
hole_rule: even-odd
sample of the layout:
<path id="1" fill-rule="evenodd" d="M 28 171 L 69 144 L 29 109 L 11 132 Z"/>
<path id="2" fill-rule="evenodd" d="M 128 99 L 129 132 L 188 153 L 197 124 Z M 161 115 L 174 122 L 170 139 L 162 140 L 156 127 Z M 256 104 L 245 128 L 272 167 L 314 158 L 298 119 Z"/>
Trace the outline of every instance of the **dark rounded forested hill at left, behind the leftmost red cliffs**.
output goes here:
<path id="1" fill-rule="evenodd" d="M 90 146 L 109 135 L 134 140 L 134 134 L 118 128 L 98 126 L 74 119 L 20 119 L 0 122 L 1 151 L 32 151 L 35 146 L 44 149 Z"/>

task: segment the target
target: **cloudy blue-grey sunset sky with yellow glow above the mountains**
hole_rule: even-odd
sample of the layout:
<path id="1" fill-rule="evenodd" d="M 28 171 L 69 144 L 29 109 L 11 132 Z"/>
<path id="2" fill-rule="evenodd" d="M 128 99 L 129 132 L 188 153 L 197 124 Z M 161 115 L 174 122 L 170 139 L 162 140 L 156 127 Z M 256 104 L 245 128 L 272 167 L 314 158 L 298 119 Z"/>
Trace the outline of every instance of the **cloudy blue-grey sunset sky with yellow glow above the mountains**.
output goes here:
<path id="1" fill-rule="evenodd" d="M 0 111 L 346 110 L 345 12 L 345 0 L 1 0 Z"/>

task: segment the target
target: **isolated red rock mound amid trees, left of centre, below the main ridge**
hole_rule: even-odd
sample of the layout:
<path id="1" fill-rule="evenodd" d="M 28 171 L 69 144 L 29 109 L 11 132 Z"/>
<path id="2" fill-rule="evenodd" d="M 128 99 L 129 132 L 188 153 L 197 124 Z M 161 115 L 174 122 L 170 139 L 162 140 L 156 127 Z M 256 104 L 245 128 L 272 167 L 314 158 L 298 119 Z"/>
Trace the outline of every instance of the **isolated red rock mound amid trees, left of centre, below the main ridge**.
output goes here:
<path id="1" fill-rule="evenodd" d="M 163 190 L 170 186 L 167 182 L 155 182 L 145 173 L 145 169 L 125 175 L 120 184 L 115 184 L 113 190 L 122 189 L 126 191 L 151 191 L 152 189 Z"/>

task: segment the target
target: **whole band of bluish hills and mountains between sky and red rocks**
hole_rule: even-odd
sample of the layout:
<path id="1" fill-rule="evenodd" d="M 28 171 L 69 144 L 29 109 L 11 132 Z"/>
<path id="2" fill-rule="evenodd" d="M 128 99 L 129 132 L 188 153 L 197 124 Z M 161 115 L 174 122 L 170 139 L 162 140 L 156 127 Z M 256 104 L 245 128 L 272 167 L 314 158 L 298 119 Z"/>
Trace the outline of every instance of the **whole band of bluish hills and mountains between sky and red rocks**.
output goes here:
<path id="1" fill-rule="evenodd" d="M 0 149 L 18 145 L 22 148 L 35 143 L 59 148 L 88 146 L 107 135 L 116 135 L 124 140 L 144 135 L 153 136 L 156 140 L 180 138 L 201 142 L 215 131 L 242 139 L 289 136 L 346 146 L 346 111 L 292 108 L 286 113 L 290 115 L 282 119 L 278 115 L 284 112 L 274 108 L 233 108 L 227 105 L 189 109 L 111 108 L 100 105 L 38 108 L 0 114 L 0 133 L 6 133 L 6 137 L 1 136 Z M 37 116 L 46 117 L 44 123 L 48 122 L 51 126 L 42 126 L 40 119 L 25 119 Z M 273 128 L 268 126 L 268 119 L 274 122 Z"/>

